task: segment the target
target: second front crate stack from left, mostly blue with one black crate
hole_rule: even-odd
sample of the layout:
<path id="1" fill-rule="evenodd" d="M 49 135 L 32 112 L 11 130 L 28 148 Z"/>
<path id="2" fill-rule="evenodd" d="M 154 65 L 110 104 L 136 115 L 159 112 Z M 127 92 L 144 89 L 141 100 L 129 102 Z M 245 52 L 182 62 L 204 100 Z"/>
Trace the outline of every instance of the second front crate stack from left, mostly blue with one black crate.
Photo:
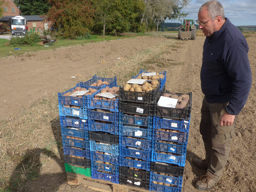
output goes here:
<path id="1" fill-rule="evenodd" d="M 116 87 L 116 77 L 101 80 L 108 81 L 109 88 Z M 118 99 L 97 100 L 93 97 L 87 103 L 92 178 L 112 183 L 119 183 L 118 104 Z"/>

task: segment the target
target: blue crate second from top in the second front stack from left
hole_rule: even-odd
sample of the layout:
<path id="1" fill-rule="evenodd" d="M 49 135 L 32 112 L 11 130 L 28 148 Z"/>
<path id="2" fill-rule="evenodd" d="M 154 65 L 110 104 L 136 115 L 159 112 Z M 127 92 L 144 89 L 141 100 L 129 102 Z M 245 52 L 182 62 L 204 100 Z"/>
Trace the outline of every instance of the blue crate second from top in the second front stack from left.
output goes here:
<path id="1" fill-rule="evenodd" d="M 94 111 L 93 109 L 88 109 L 87 113 L 88 119 L 118 123 L 118 112 L 103 113 Z"/>

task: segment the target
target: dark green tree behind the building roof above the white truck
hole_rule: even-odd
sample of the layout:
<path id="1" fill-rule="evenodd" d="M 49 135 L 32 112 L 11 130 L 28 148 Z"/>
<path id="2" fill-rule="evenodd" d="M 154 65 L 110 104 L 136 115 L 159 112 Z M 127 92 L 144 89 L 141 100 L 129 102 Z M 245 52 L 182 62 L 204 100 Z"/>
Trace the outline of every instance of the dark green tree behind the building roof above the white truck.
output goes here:
<path id="1" fill-rule="evenodd" d="M 50 4 L 45 0 L 14 0 L 23 15 L 46 15 Z"/>

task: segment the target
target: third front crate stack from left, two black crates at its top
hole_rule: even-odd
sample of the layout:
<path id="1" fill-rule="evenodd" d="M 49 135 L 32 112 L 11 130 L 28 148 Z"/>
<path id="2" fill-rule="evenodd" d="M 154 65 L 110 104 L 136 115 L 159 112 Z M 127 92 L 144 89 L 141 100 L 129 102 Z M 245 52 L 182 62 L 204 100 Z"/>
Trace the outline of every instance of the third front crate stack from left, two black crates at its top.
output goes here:
<path id="1" fill-rule="evenodd" d="M 160 82 L 163 86 L 159 83 L 151 92 L 124 91 L 120 87 L 120 184 L 149 189 L 154 102 L 160 94 L 160 87 L 164 89 L 166 72 L 162 74 L 164 82 L 162 79 Z"/>

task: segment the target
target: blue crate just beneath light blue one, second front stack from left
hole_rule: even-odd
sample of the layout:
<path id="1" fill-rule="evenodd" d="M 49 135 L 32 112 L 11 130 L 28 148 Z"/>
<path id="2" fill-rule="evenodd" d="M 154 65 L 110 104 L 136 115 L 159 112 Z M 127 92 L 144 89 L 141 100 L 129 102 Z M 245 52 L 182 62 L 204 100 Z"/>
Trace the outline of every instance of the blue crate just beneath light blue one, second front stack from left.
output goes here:
<path id="1" fill-rule="evenodd" d="M 118 155 L 109 155 L 108 153 L 100 154 L 95 151 L 90 151 L 91 161 L 103 161 L 108 162 L 113 165 L 119 165 L 119 156 Z"/>

